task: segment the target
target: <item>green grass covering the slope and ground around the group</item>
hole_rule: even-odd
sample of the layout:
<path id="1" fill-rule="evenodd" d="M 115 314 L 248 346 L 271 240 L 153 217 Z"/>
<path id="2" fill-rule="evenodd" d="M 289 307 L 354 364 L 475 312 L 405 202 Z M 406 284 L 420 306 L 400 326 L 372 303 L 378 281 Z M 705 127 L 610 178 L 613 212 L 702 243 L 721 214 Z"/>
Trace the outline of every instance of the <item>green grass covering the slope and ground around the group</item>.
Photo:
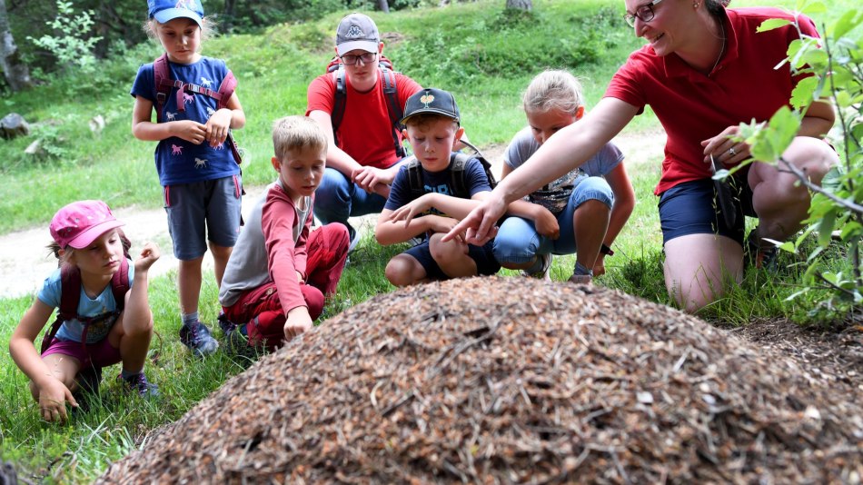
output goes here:
<path id="1" fill-rule="evenodd" d="M 734 6 L 792 5 L 788 1 L 735 0 Z M 458 94 L 464 125 L 481 146 L 505 144 L 525 123 L 521 91 L 544 67 L 568 67 L 585 86 L 588 104 L 600 99 L 607 81 L 626 55 L 641 45 L 620 20 L 622 2 L 599 0 L 535 1 L 532 19 L 501 15 L 501 2 L 483 0 L 448 8 L 426 8 L 382 15 L 372 13 L 388 39 L 386 54 L 423 85 Z M 853 5 L 831 3 L 824 18 Z M 270 125 L 286 114 L 303 114 L 305 88 L 322 73 L 332 55 L 332 29 L 342 13 L 304 25 L 277 25 L 260 35 L 216 38 L 204 54 L 223 57 L 240 80 L 238 94 L 248 123 L 237 138 L 248 156 L 245 183 L 260 185 L 272 179 L 267 159 L 272 151 Z M 386 33 L 398 32 L 398 38 Z M 536 35 L 542 33 L 542 35 Z M 392 40 L 389 40 L 392 39 Z M 567 51 L 560 54 L 557 51 Z M 123 60 L 104 64 L 94 79 L 58 79 L 35 90 L 5 99 L 7 111 L 35 122 L 55 156 L 33 160 L 22 154 L 30 139 L 0 144 L 0 233 L 28 226 L 45 226 L 56 208 L 82 198 L 102 198 L 114 207 L 137 204 L 157 208 L 160 187 L 153 163 L 153 143 L 134 139 L 130 131 L 133 100 L 128 95 L 137 65 L 157 54 L 156 45 L 130 50 Z M 471 59 L 473 62 L 471 62 Z M 481 59 L 481 63 L 475 62 Z M 106 119 L 102 134 L 91 134 L 87 121 L 96 114 Z M 657 128 L 650 111 L 637 117 L 626 133 Z M 662 277 L 661 234 L 652 195 L 659 176 L 661 152 L 630 169 L 637 205 L 615 243 L 616 254 L 606 259 L 608 273 L 599 283 L 624 292 L 668 303 Z M 337 297 L 322 320 L 374 295 L 392 291 L 383 268 L 402 245 L 382 248 L 371 235 L 352 253 Z M 839 248 L 834 261 L 845 260 Z M 785 262 L 792 261 L 784 257 Z M 552 277 L 570 276 L 573 257 L 555 259 Z M 713 322 L 743 324 L 753 318 L 802 318 L 813 297 L 783 302 L 798 290 L 799 271 L 782 275 L 749 272 L 727 298 L 702 312 Z M 512 272 L 504 272 L 511 274 Z M 212 276 L 205 277 L 201 313 L 215 322 L 218 312 Z M 5 347 L 30 298 L 0 302 L 0 345 Z M 103 402 L 72 423 L 47 424 L 38 418 L 24 374 L 8 352 L 0 352 L 0 455 L 13 460 L 33 477 L 55 482 L 94 480 L 112 460 L 138 448 L 146 434 L 179 419 L 194 404 L 217 389 L 243 367 L 222 352 L 195 360 L 177 337 L 174 274 L 151 282 L 150 302 L 156 332 L 147 364 L 151 381 L 161 386 L 164 399 L 146 402 L 124 396 L 114 382 L 118 369 L 105 371 Z M 218 331 L 216 331 L 218 333 Z"/>

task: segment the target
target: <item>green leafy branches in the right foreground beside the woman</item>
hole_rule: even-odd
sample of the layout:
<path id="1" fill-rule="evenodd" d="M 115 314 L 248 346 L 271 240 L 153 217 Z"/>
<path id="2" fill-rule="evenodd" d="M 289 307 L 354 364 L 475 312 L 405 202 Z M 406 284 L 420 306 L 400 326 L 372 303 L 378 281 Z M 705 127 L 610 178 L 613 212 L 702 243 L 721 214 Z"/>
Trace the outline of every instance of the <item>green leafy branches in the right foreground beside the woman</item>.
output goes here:
<path id="1" fill-rule="evenodd" d="M 822 4 L 798 5 L 803 13 L 818 13 L 826 9 Z M 796 241 L 779 245 L 787 252 L 808 253 L 805 287 L 789 296 L 798 299 L 819 289 L 828 289 L 815 306 L 818 312 L 846 312 L 858 309 L 863 303 L 863 264 L 860 260 L 860 243 L 863 238 L 863 49 L 858 36 L 852 36 L 863 24 L 863 12 L 848 8 L 838 20 L 824 29 L 824 37 L 816 39 L 801 35 L 789 46 L 790 63 L 794 72 L 811 74 L 795 89 L 791 104 L 780 109 L 769 124 L 741 125 L 741 134 L 752 145 L 756 160 L 778 163 L 780 170 L 793 167 L 782 159 L 798 132 L 803 115 L 813 100 L 827 97 L 838 114 L 838 140 L 841 166 L 836 167 L 820 187 L 808 183 L 805 173 L 795 173 L 800 183 L 807 184 L 814 193 L 809 208 L 806 230 Z M 789 25 L 787 21 L 769 20 L 760 31 Z M 796 22 L 792 25 L 799 26 Z M 779 161 L 779 162 L 776 162 Z M 838 244 L 847 248 L 840 268 L 826 268 L 831 261 L 828 251 L 833 235 L 838 233 Z M 814 239 L 815 244 L 807 244 Z M 835 254 L 832 254 L 835 256 Z"/>

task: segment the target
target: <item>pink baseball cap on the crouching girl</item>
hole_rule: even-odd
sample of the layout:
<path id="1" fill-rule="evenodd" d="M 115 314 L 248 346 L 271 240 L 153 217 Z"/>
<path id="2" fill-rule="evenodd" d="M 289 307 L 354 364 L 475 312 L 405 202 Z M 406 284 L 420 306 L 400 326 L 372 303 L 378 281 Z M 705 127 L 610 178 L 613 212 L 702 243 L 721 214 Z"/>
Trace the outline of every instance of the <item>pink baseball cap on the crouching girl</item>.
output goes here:
<path id="1" fill-rule="evenodd" d="M 83 249 L 96 238 L 124 225 L 102 201 L 78 201 L 64 206 L 51 220 L 51 237 L 61 248 Z"/>

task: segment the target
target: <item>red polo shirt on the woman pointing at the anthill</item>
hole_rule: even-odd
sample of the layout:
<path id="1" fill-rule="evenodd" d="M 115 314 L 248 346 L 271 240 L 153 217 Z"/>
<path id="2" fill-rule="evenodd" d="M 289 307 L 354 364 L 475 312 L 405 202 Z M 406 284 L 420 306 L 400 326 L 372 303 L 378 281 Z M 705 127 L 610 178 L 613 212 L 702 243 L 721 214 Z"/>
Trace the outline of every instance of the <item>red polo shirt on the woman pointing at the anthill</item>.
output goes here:
<path id="1" fill-rule="evenodd" d="M 689 67 L 677 54 L 660 57 L 645 45 L 630 54 L 605 92 L 642 110 L 649 104 L 665 128 L 668 142 L 656 194 L 678 183 L 708 178 L 701 141 L 732 125 L 769 120 L 789 105 L 799 81 L 790 74 L 789 64 L 776 68 L 786 58 L 789 44 L 799 38 L 794 26 L 756 33 L 765 20 L 791 19 L 788 13 L 764 7 L 726 12 L 725 54 L 709 75 Z M 805 35 L 818 37 L 811 19 L 800 15 L 799 24 Z"/>

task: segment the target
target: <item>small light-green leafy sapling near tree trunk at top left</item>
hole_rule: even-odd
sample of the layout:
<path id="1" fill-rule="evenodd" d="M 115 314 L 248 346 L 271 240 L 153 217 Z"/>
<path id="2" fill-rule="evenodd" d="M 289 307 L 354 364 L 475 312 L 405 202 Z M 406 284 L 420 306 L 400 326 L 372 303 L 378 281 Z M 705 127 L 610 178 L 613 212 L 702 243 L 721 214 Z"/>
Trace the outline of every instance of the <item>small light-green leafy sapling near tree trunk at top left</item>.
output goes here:
<path id="1" fill-rule="evenodd" d="M 92 74 L 96 69 L 94 45 L 102 37 L 90 35 L 93 28 L 92 10 L 75 11 L 72 2 L 57 0 L 57 16 L 49 21 L 55 35 L 42 35 L 39 38 L 27 37 L 35 45 L 54 54 L 64 70 L 80 70 L 84 74 Z"/>

